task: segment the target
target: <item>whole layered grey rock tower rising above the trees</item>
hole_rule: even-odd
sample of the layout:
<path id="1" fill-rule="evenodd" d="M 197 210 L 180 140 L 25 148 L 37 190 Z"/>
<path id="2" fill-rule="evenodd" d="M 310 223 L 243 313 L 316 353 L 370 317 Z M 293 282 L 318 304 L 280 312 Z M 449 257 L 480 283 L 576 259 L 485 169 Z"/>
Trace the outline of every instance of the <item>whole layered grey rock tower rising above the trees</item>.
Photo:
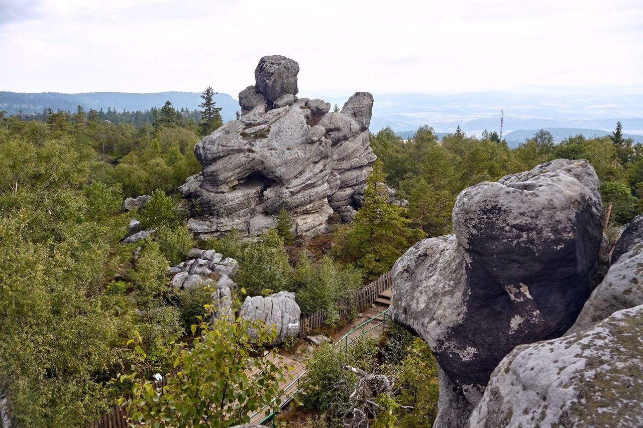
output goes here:
<path id="1" fill-rule="evenodd" d="M 323 100 L 296 97 L 298 71 L 289 58 L 261 58 L 255 85 L 239 93 L 240 120 L 195 146 L 203 170 L 181 192 L 195 202 L 188 226 L 202 238 L 231 229 L 256 235 L 275 226 L 282 209 L 295 233 L 316 235 L 334 210 L 359 206 L 376 160 L 368 140 L 373 97 L 356 93 L 329 112 Z"/>

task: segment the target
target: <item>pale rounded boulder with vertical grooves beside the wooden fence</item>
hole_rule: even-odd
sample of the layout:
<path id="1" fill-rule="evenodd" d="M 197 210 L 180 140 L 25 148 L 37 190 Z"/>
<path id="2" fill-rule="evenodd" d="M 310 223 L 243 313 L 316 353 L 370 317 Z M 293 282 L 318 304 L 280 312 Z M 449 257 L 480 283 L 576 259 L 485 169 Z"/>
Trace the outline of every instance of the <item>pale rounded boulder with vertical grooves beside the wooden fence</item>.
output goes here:
<path id="1" fill-rule="evenodd" d="M 301 311 L 294 301 L 294 293 L 280 291 L 266 298 L 246 297 L 239 310 L 239 316 L 252 321 L 261 320 L 265 325 L 275 325 L 276 339 L 271 346 L 284 343 L 286 337 L 299 334 Z"/>

